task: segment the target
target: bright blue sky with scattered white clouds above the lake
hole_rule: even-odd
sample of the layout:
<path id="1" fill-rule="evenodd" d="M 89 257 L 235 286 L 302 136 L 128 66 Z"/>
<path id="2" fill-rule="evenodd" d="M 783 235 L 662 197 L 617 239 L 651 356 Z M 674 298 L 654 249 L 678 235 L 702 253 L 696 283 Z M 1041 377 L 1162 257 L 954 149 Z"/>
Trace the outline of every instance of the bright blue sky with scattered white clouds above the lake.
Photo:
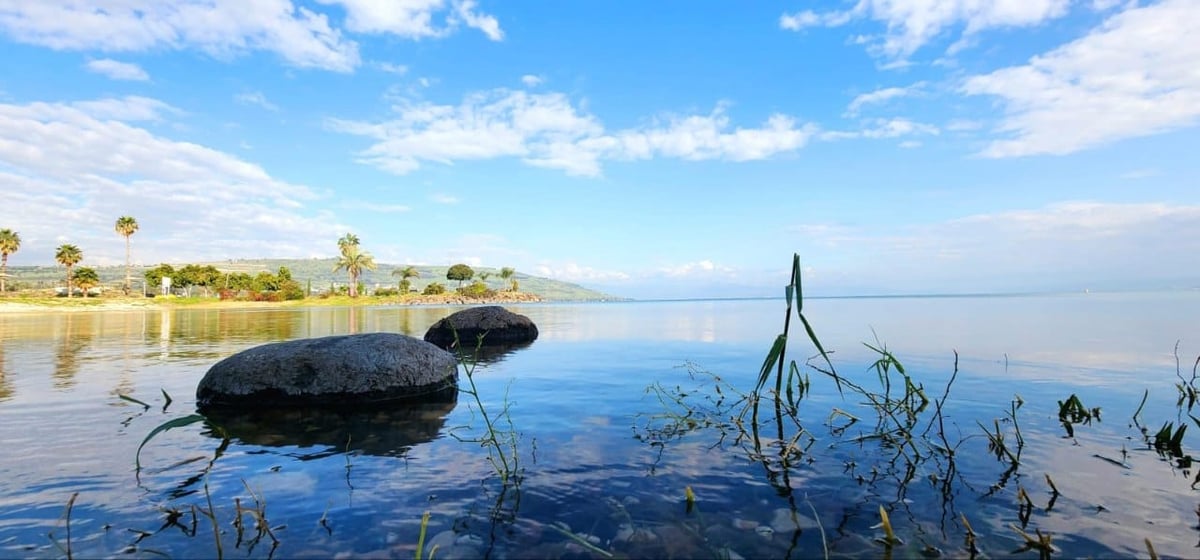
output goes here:
<path id="1" fill-rule="evenodd" d="M 1200 0 L 0 0 L 11 265 L 1200 285 Z"/>

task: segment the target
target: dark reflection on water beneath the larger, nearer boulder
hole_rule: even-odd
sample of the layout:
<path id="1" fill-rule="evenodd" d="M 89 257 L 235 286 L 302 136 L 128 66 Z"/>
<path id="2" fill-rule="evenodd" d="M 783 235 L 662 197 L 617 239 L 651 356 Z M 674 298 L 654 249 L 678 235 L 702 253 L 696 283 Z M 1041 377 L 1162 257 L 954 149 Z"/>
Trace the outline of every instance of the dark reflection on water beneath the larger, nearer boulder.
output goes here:
<path id="1" fill-rule="evenodd" d="M 400 457 L 413 446 L 433 441 L 445 427 L 456 401 L 377 410 L 275 409 L 209 410 L 205 416 L 229 438 L 245 445 L 299 447 L 287 452 L 301 460 L 341 452 Z M 221 439 L 216 429 L 205 435 Z M 313 448 L 314 447 L 314 448 Z"/>

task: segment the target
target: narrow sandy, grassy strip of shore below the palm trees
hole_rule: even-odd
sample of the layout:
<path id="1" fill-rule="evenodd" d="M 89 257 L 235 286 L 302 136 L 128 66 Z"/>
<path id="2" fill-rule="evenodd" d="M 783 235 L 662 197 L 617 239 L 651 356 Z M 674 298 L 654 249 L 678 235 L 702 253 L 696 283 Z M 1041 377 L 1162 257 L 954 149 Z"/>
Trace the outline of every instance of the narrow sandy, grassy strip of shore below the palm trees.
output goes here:
<path id="1" fill-rule="evenodd" d="M 215 297 L 0 297 L 0 314 L 86 313 L 160 309 L 275 309 L 288 307 L 368 307 L 368 306 L 476 306 L 540 303 L 541 297 L 526 293 L 498 293 L 493 297 L 467 297 L 460 294 L 412 295 L 397 297 L 306 297 L 290 301 L 238 301 Z"/>

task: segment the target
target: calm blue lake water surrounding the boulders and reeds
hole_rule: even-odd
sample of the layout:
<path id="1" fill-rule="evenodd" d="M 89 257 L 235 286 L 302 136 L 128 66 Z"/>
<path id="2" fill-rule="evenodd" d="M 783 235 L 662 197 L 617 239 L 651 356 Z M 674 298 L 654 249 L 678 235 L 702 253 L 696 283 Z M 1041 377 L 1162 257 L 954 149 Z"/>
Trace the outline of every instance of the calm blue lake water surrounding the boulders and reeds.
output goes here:
<path id="1" fill-rule="evenodd" d="M 193 423 L 152 439 L 134 469 L 146 434 L 194 413 L 196 384 L 217 360 L 302 337 L 420 337 L 455 308 L 0 314 L 0 556 L 66 556 L 74 493 L 70 544 L 80 558 L 215 556 L 212 522 L 198 513 L 209 500 L 226 558 L 412 558 L 424 512 L 436 558 L 599 554 L 576 541 L 634 556 L 811 558 L 827 547 L 874 558 L 884 553 L 872 529 L 881 505 L 904 540 L 896 558 L 964 555 L 960 514 L 989 556 L 1021 547 L 1010 525 L 1022 522 L 1030 534 L 1054 534 L 1067 556 L 1146 555 L 1147 537 L 1164 556 L 1200 554 L 1195 472 L 1147 448 L 1130 420 L 1148 390 L 1141 420 L 1151 432 L 1193 423 L 1175 405 L 1174 347 L 1181 341 L 1190 378 L 1200 293 L 808 301 L 839 372 L 864 386 L 878 384 L 869 372 L 878 356 L 863 341 L 886 343 L 930 397 L 942 395 L 958 350 L 944 409 L 947 435 L 961 441 L 954 471 L 930 459 L 908 482 L 889 460 L 894 448 L 854 440 L 872 422 L 833 429 L 845 423 L 834 408 L 869 410 L 817 373 L 800 404 L 802 441 L 811 444 L 782 472 L 744 440 L 662 416 L 667 408 L 647 392 L 654 383 L 696 403 L 714 395 L 697 372 L 751 389 L 782 327 L 781 301 L 510 308 L 541 337 L 475 369 L 488 409 L 506 392 L 520 433 L 524 476 L 503 492 L 487 450 L 451 434 L 480 433 L 466 397 L 391 413 L 210 419 L 232 438 L 211 468 L 222 440 Z M 814 350 L 797 344 L 791 356 L 803 365 Z M 166 409 L 163 392 L 173 398 Z M 1103 420 L 1064 438 L 1056 401 L 1072 393 Z M 994 426 L 1015 395 L 1026 442 L 1006 476 L 977 422 Z M 1012 423 L 1001 427 L 1012 439 Z M 1045 475 L 1061 490 L 1052 507 Z M 1019 489 L 1034 506 L 1024 520 Z M 239 542 L 235 500 L 251 507 L 251 490 L 265 502 L 275 549 L 266 537 L 250 542 L 248 514 Z"/>

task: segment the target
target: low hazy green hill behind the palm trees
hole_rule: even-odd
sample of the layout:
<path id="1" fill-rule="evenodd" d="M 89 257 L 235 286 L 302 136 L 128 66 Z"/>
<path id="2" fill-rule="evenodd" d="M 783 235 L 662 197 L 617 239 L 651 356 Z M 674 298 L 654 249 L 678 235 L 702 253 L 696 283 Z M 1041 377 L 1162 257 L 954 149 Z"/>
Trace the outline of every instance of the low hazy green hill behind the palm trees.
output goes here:
<path id="1" fill-rule="evenodd" d="M 212 265 L 222 272 L 248 272 L 254 275 L 260 271 L 277 272 L 281 266 L 287 266 L 292 271 L 292 277 L 301 284 L 312 282 L 313 289 L 329 288 L 330 284 L 346 284 L 346 272 L 334 272 L 334 264 L 337 259 L 235 259 L 212 263 L 194 263 L 198 265 Z M 180 263 L 173 266 L 182 266 Z M 157 266 L 157 265 L 154 265 Z M 407 265 L 395 265 L 379 263 L 374 271 L 366 271 L 360 281 L 368 289 L 378 287 L 395 287 L 400 278 L 391 276 L 395 269 L 403 269 Z M 421 275 L 413 278 L 413 287 L 418 290 L 425 289 L 431 282 L 440 282 L 446 288 L 454 289 L 457 282 L 446 279 L 449 266 L 414 266 Z M 125 266 L 96 266 L 100 279 L 106 287 L 120 287 L 125 282 Z M 143 267 L 133 267 L 134 290 L 140 288 Z M 492 276 L 487 284 L 492 288 L 502 288 L 503 281 L 499 277 L 499 269 L 475 267 L 475 277 L 480 272 L 490 272 Z M 54 288 L 61 285 L 66 271 L 61 266 L 8 266 L 8 283 L 22 288 Z M 583 288 L 570 282 L 562 282 L 540 276 L 532 276 L 520 270 L 514 276 L 520 284 L 521 291 L 535 294 L 547 301 L 619 301 L 618 297 L 596 290 Z"/>

